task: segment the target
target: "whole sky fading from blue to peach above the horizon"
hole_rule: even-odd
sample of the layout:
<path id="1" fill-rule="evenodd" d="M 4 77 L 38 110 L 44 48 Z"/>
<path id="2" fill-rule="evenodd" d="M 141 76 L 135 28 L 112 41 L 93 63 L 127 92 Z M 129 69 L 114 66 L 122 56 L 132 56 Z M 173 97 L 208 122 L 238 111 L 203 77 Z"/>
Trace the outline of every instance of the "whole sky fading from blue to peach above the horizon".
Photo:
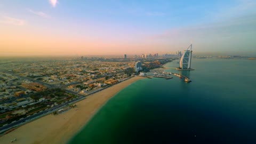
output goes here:
<path id="1" fill-rule="evenodd" d="M 1 0 L 0 56 L 198 53 L 256 56 L 256 1 Z"/>

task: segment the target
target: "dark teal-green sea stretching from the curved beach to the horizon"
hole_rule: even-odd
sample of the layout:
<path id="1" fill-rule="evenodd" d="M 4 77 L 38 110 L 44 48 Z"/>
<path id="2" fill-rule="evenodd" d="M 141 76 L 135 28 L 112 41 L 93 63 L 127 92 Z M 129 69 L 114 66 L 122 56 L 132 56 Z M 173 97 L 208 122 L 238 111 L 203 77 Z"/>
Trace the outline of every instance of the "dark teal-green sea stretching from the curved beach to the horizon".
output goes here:
<path id="1" fill-rule="evenodd" d="M 164 65 L 111 98 L 68 143 L 256 143 L 256 60 L 192 59 Z"/>

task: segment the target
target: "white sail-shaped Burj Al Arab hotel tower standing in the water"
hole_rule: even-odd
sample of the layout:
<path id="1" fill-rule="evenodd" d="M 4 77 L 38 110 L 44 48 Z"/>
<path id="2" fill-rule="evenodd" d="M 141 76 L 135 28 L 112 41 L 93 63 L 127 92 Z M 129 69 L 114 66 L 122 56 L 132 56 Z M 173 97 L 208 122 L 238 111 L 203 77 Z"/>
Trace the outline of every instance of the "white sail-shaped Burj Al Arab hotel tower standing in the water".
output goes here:
<path id="1" fill-rule="evenodd" d="M 181 59 L 180 59 L 180 67 L 176 68 L 178 70 L 194 70 L 190 68 L 191 66 L 191 58 L 192 58 L 192 44 L 189 45 L 188 49 L 185 50 Z"/>

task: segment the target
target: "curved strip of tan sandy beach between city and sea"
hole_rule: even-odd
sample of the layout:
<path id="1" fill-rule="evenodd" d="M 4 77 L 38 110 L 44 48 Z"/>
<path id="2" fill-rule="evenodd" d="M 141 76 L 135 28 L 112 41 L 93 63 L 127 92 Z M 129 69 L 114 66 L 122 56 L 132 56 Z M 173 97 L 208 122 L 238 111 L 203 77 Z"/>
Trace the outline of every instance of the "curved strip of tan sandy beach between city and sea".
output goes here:
<path id="1" fill-rule="evenodd" d="M 85 100 L 76 103 L 77 108 L 60 115 L 47 115 L 36 121 L 25 124 L 18 129 L 0 137 L 0 143 L 67 143 L 90 118 L 116 93 L 127 85 L 142 79 L 133 77 L 108 89 L 89 95 Z"/>

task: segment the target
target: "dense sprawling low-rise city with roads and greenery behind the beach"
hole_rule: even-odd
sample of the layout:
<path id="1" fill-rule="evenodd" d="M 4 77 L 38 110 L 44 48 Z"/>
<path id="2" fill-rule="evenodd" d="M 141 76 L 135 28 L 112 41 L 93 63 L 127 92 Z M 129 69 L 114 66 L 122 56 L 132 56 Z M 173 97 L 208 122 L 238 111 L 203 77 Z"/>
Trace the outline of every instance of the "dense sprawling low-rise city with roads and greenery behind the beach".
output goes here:
<path id="1" fill-rule="evenodd" d="M 146 54 L 145 54 L 146 55 Z M 74 107 L 87 95 L 161 67 L 176 57 L 81 57 L 7 60 L 0 72 L 0 127 L 4 132 L 33 119 Z M 145 58 L 144 58 L 145 57 Z M 15 62 L 14 62 L 15 61 Z M 135 63 L 141 67 L 136 68 Z"/>

